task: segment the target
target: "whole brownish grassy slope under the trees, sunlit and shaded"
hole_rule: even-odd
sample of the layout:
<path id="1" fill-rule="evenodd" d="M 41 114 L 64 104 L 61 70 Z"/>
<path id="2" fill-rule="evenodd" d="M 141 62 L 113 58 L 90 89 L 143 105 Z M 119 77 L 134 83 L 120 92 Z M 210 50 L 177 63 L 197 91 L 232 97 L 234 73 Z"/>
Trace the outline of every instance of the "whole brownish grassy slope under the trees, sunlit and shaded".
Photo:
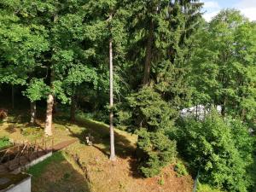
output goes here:
<path id="1" fill-rule="evenodd" d="M 28 117 L 19 112 L 9 115 L 0 124 L 0 137 L 17 141 L 40 140 L 44 135 L 44 121 L 37 119 L 37 128 L 30 127 Z M 77 138 L 78 141 L 55 153 L 48 160 L 28 170 L 32 173 L 32 191 L 73 192 L 190 192 L 190 176 L 177 177 L 173 166 L 167 166 L 160 176 L 143 178 L 137 172 L 134 157 L 137 136 L 115 130 L 117 160 L 110 162 L 108 125 L 78 119 L 69 123 L 65 118 L 55 118 L 55 143 Z M 85 143 L 86 136 L 94 137 L 93 146 Z"/>

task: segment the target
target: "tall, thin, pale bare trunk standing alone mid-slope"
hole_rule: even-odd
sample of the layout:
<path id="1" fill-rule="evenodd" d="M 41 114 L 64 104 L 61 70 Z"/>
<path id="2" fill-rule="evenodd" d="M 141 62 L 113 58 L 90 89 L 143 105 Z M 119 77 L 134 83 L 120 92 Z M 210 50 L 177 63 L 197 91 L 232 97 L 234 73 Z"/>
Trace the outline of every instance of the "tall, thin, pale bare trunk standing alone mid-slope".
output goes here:
<path id="1" fill-rule="evenodd" d="M 112 14 L 109 16 L 112 20 Z M 115 160 L 114 133 L 113 133 L 113 39 L 109 39 L 109 131 L 110 131 L 110 157 L 109 160 Z"/>

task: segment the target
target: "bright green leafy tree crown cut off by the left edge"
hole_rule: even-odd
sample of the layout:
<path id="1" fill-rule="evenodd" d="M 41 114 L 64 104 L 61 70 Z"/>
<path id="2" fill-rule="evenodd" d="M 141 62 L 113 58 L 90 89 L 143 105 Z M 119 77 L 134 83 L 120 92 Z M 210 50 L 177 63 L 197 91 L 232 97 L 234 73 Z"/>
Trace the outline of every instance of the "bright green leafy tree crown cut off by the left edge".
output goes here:
<path id="1" fill-rule="evenodd" d="M 26 84 L 29 74 L 39 65 L 40 55 L 49 49 L 44 26 L 26 23 L 26 10 L 20 1 L 0 3 L 0 79 L 1 83 Z M 13 93 L 14 108 L 14 93 Z"/>

